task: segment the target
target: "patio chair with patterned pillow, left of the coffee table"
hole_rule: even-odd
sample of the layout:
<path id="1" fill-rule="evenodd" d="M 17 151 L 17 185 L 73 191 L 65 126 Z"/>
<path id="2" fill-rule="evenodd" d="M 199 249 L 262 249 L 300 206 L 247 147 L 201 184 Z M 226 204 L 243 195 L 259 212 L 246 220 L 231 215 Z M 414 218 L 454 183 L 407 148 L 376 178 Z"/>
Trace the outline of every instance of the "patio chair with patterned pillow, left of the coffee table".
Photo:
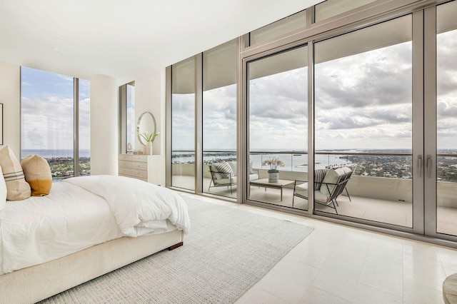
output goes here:
<path id="1" fill-rule="evenodd" d="M 249 181 L 258 179 L 258 170 L 249 166 Z M 256 173 L 255 173 L 256 171 Z M 212 163 L 209 165 L 211 181 L 209 182 L 208 192 L 211 187 L 227 187 L 233 194 L 232 186 L 236 186 L 236 161 L 223 161 L 221 163 Z M 211 186 L 212 185 L 212 186 Z"/>

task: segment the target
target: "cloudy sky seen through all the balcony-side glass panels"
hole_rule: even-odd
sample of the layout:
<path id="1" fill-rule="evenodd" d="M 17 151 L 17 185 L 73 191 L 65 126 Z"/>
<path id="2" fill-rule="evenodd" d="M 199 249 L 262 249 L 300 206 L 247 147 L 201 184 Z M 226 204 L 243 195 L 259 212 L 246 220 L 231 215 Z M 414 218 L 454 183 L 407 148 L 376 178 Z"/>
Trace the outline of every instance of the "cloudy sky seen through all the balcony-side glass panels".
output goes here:
<path id="1" fill-rule="evenodd" d="M 437 145 L 457 148 L 457 31 L 437 41 Z M 316 64 L 316 150 L 411 151 L 411 62 L 406 41 Z M 236 148 L 235 97 L 235 85 L 204 92 L 204 150 Z M 306 150 L 306 67 L 251 80 L 248 97 L 251 151 Z M 193 148 L 194 95 L 176 94 L 173 103 L 173 147 Z"/>

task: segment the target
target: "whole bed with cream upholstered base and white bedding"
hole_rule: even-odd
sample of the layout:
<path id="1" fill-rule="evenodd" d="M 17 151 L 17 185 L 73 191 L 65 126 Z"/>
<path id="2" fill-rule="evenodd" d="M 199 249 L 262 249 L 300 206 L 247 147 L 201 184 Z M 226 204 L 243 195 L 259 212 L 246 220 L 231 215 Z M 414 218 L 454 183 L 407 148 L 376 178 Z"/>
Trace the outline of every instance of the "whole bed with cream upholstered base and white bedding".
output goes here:
<path id="1" fill-rule="evenodd" d="M 0 303 L 35 303 L 183 244 L 186 203 L 170 189 L 121 176 L 54 183 L 48 196 L 0 211 Z"/>

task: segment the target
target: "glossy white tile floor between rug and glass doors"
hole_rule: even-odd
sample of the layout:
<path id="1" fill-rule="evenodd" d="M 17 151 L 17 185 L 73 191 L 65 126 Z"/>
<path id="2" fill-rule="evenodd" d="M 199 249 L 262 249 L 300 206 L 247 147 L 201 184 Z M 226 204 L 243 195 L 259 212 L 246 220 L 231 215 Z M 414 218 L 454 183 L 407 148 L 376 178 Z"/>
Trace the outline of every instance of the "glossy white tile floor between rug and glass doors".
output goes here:
<path id="1" fill-rule="evenodd" d="M 453 248 L 181 194 L 314 227 L 237 304 L 443 303 L 443 280 L 457 272 Z"/>

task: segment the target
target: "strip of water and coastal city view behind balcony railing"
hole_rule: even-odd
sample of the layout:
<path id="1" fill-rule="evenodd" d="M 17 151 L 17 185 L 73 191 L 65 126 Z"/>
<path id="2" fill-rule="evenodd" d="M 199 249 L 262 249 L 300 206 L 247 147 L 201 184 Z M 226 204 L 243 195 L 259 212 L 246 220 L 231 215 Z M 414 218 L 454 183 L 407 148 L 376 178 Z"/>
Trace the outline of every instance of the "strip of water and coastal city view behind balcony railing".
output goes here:
<path id="1" fill-rule="evenodd" d="M 438 181 L 457 183 L 457 150 L 439 151 Z M 456 156 L 453 156 L 456 154 Z M 261 166 L 267 159 L 277 157 L 285 164 L 281 171 L 308 172 L 308 154 L 305 152 L 258 152 L 251 153 L 250 160 L 253 168 L 268 169 Z M 194 163 L 192 151 L 173 153 L 173 163 Z M 219 163 L 221 161 L 236 161 L 236 153 L 204 152 L 204 163 Z M 413 176 L 412 156 L 410 151 L 403 150 L 346 150 L 346 151 L 316 151 L 315 168 L 339 168 L 348 166 L 356 176 L 376 176 L 383 178 L 411 179 Z"/>

